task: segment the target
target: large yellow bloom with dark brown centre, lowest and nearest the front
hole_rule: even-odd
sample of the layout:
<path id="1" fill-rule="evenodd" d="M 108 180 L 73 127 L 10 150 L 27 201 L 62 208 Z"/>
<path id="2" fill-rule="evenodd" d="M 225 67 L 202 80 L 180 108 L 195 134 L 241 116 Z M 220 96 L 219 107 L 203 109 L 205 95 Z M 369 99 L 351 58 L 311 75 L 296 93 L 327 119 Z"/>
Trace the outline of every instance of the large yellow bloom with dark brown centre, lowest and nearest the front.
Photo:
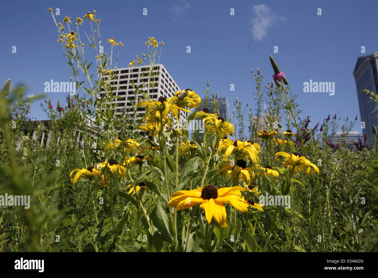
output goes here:
<path id="1" fill-rule="evenodd" d="M 201 203 L 200 208 L 205 211 L 208 224 L 211 223 L 214 217 L 214 220 L 224 228 L 227 227 L 227 214 L 224 203 L 231 204 L 232 207 L 241 212 L 247 212 L 248 208 L 241 201 L 241 196 L 240 190 L 236 187 L 217 189 L 214 185 L 207 185 L 193 190 L 180 190 L 173 193 L 172 199 L 167 203 L 167 206 L 172 205 L 178 210 L 185 210 L 197 205 L 197 203 Z"/>

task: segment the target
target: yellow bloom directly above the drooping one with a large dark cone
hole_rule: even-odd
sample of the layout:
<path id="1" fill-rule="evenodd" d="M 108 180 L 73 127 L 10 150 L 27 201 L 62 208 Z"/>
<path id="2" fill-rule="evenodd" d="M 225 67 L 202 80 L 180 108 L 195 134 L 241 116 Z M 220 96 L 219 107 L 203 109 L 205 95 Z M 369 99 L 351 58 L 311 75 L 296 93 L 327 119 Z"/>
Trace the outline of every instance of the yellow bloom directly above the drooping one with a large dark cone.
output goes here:
<path id="1" fill-rule="evenodd" d="M 258 144 L 256 145 L 259 146 Z M 222 139 L 218 143 L 217 154 L 220 156 L 223 153 L 224 159 L 228 158 L 231 154 L 235 154 L 237 158 L 249 157 L 254 165 L 260 164 L 260 159 L 254 144 L 248 141 L 232 141 L 229 138 Z"/>

